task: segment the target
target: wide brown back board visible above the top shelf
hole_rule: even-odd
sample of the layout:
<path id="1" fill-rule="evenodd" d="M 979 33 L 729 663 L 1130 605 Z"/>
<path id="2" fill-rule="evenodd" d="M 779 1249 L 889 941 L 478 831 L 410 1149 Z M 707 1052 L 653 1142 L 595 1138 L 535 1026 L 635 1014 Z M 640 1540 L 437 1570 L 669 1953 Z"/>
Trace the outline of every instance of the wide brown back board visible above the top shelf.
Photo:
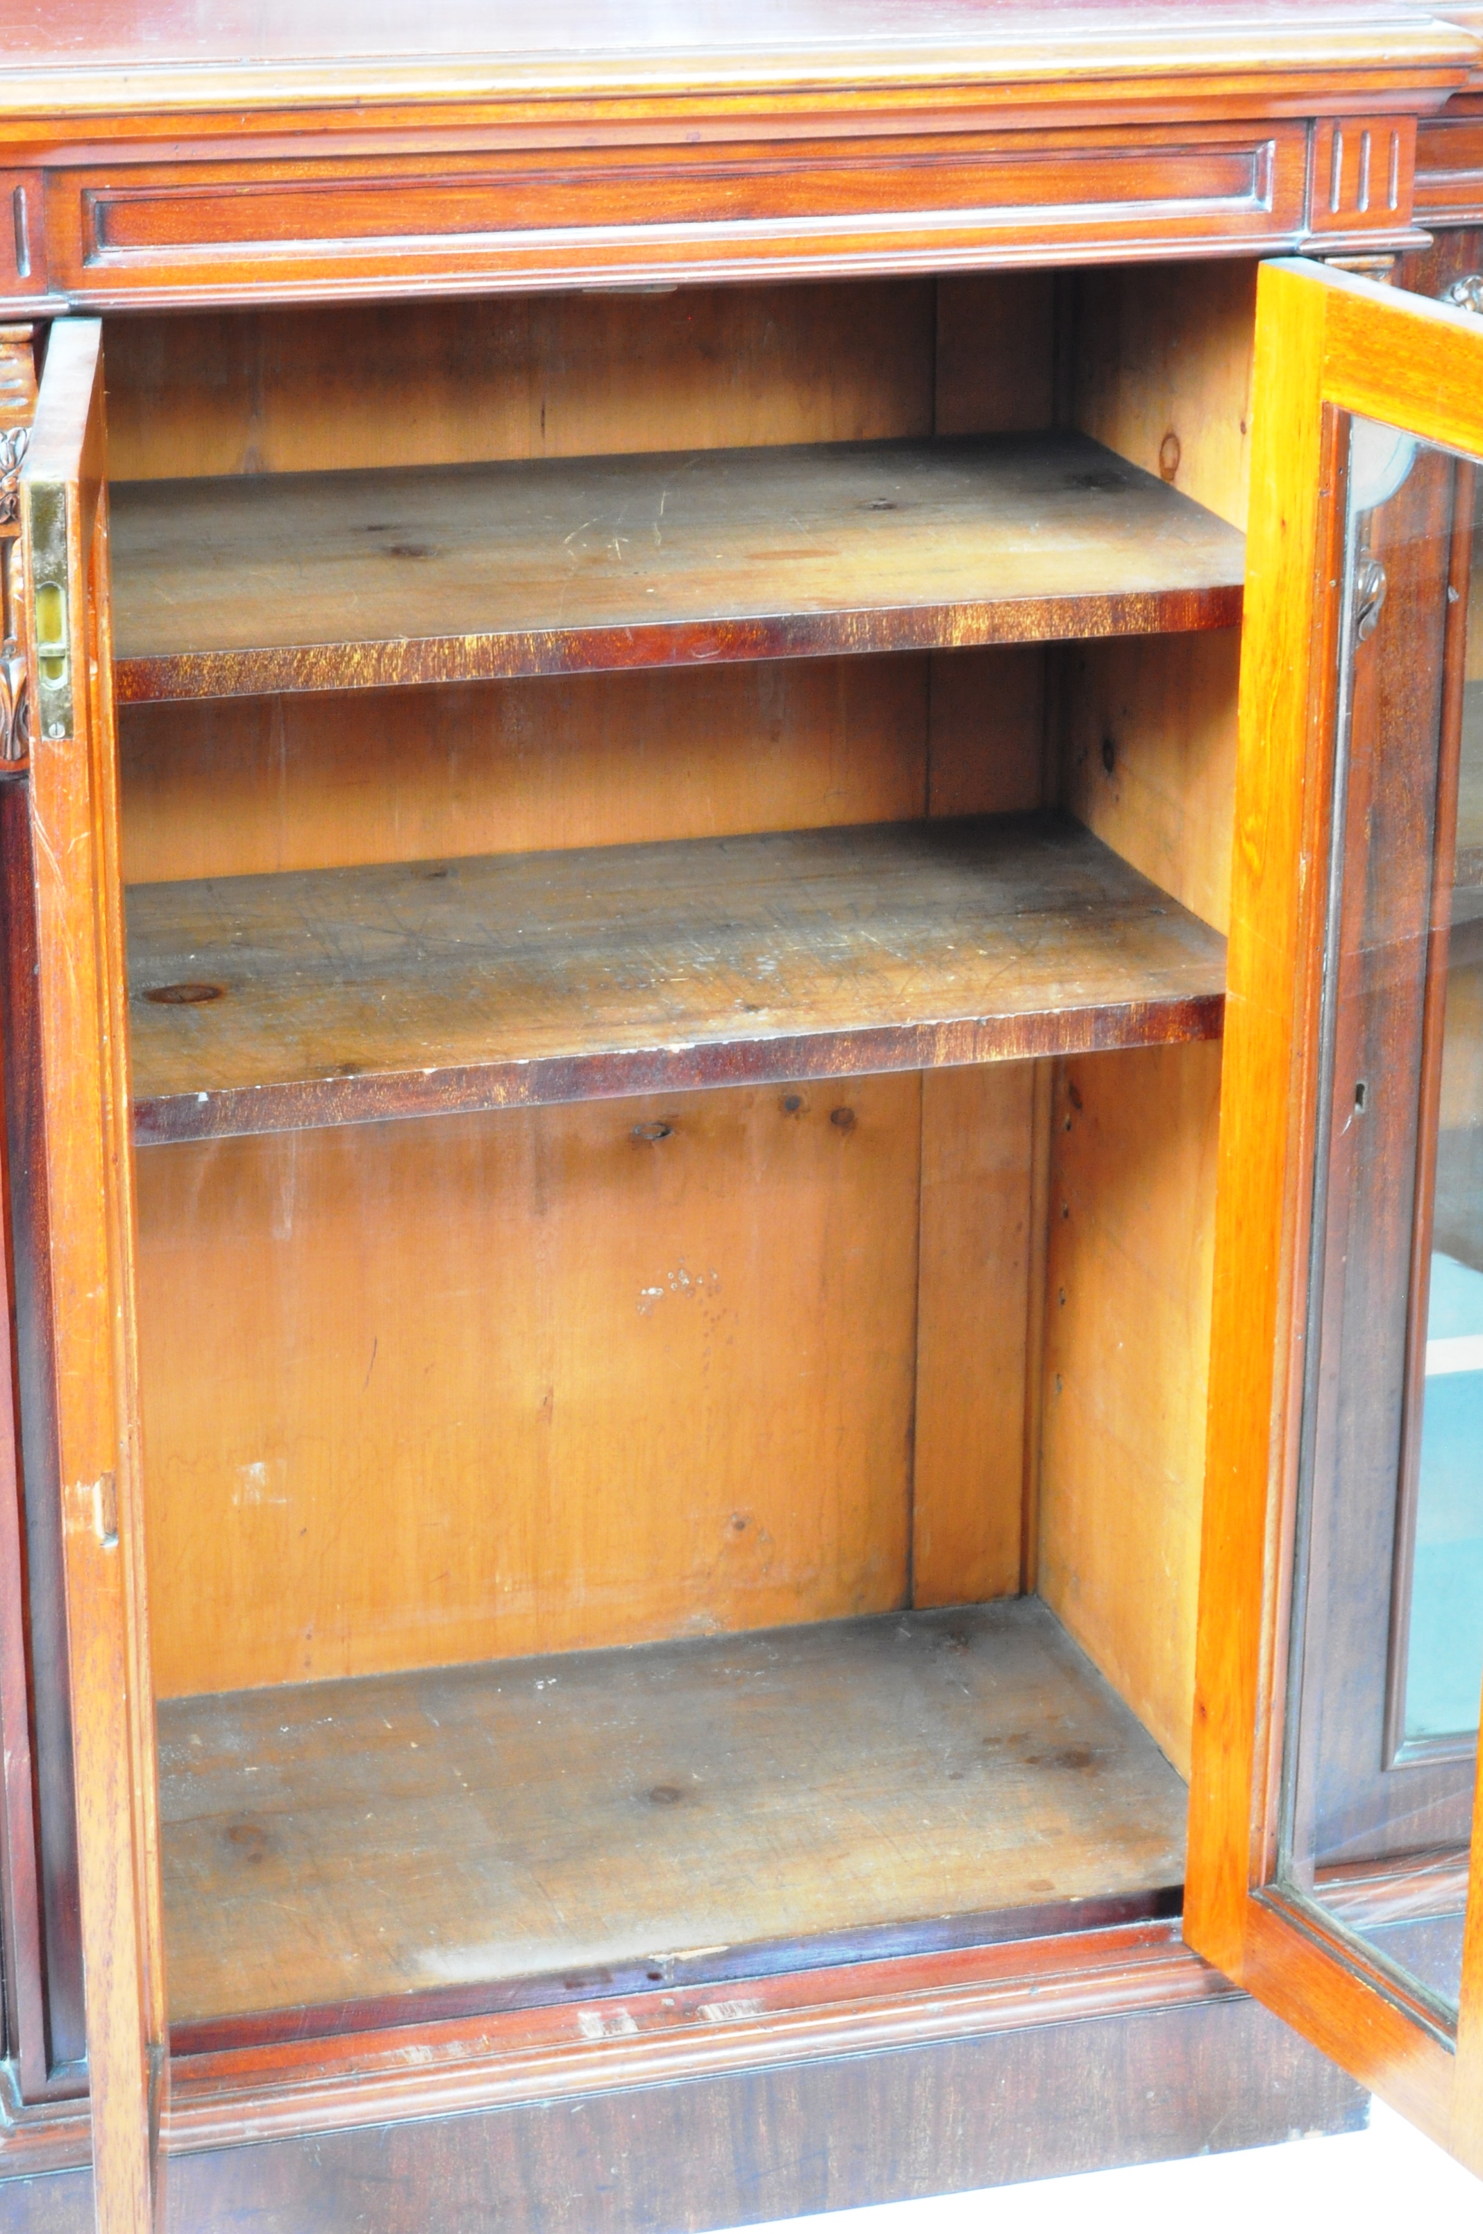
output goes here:
<path id="1" fill-rule="evenodd" d="M 107 322 L 116 480 L 931 433 L 931 279 Z"/>

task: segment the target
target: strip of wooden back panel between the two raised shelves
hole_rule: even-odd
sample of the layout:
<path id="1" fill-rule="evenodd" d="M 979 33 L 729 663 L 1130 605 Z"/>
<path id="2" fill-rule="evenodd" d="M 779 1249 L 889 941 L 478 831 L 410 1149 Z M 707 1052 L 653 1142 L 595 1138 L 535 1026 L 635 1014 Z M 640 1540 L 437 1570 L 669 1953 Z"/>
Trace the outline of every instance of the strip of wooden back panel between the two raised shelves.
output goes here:
<path id="1" fill-rule="evenodd" d="M 121 708 L 130 885 L 1041 802 L 1036 646 Z"/>

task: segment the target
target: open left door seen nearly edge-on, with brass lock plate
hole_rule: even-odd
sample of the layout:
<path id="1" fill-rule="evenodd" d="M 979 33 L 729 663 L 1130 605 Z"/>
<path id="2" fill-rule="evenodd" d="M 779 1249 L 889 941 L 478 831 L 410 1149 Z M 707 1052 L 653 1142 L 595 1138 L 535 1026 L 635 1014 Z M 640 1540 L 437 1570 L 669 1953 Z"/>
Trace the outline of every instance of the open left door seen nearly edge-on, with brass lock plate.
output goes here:
<path id="1" fill-rule="evenodd" d="M 159 2205 L 165 2060 L 134 1363 L 103 328 L 58 322 L 20 480 L 51 1416 L 63 1503 L 96 2218 Z M 31 1175 L 31 1184 L 36 1175 Z"/>

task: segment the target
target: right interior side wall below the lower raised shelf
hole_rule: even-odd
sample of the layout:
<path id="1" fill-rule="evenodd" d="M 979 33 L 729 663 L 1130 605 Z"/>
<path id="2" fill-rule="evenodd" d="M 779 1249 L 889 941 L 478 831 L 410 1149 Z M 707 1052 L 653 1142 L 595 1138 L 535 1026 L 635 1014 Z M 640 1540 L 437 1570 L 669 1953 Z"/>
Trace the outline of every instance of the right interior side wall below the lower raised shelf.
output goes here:
<path id="1" fill-rule="evenodd" d="M 1041 1595 L 1188 1776 L 1219 1043 L 1059 1066 Z"/>

